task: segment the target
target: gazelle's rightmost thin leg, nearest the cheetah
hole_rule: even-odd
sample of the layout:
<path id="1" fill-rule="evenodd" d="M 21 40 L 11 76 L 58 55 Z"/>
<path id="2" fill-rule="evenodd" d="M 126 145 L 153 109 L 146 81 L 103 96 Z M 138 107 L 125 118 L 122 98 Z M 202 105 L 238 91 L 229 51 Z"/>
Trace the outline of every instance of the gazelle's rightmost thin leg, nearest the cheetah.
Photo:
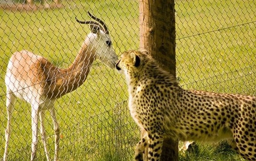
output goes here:
<path id="1" fill-rule="evenodd" d="M 58 156 L 59 156 L 59 124 L 56 118 L 56 113 L 55 113 L 55 109 L 52 108 L 50 111 L 51 115 L 52 115 L 52 119 L 53 119 L 53 128 L 54 128 L 54 134 L 55 134 L 55 155 L 54 155 L 54 161 L 58 160 Z"/>

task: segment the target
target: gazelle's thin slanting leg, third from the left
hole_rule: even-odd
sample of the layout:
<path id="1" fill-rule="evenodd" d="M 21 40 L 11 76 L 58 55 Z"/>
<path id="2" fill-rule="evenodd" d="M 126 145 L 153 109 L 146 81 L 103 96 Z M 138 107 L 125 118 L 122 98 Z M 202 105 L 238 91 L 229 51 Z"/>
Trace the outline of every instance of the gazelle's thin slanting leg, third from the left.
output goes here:
<path id="1" fill-rule="evenodd" d="M 49 158 L 49 151 L 47 149 L 47 136 L 46 136 L 46 131 L 44 128 L 44 116 L 45 116 L 45 110 L 40 110 L 39 112 L 39 116 L 40 116 L 40 133 L 41 133 L 41 138 L 43 140 L 43 144 L 44 144 L 44 152 L 46 155 L 46 159 L 47 161 L 50 161 Z"/>

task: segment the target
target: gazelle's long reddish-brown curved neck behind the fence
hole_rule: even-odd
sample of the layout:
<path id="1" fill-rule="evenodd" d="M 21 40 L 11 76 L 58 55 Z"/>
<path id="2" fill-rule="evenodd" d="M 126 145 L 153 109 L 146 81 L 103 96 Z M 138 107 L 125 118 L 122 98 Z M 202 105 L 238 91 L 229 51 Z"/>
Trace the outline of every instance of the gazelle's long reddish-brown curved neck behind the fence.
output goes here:
<path id="1" fill-rule="evenodd" d="M 47 81 L 50 89 L 44 91 L 49 98 L 59 98 L 76 90 L 86 80 L 93 61 L 95 50 L 85 42 L 79 50 L 74 62 L 67 69 L 55 69 L 52 80 Z M 48 93 L 47 93 L 48 92 Z"/>

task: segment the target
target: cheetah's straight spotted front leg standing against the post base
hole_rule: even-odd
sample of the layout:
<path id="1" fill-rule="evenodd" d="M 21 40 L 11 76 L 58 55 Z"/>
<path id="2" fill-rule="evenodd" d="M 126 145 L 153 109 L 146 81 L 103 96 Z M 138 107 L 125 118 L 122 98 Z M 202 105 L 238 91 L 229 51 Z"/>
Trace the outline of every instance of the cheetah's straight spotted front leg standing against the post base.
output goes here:
<path id="1" fill-rule="evenodd" d="M 148 160 L 160 161 L 163 149 L 163 135 L 158 133 L 148 134 Z"/>

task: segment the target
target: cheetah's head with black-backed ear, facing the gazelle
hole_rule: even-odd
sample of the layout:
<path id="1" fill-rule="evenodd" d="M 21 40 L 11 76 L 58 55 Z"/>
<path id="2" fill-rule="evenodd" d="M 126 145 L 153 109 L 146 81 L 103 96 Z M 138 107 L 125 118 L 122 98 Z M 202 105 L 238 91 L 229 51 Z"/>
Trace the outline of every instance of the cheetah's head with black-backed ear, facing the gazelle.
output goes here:
<path id="1" fill-rule="evenodd" d="M 119 73 L 129 75 L 131 73 L 136 73 L 145 63 L 145 59 L 147 59 L 148 52 L 147 51 L 125 51 L 121 55 L 121 59 L 119 59 L 116 63 L 116 69 Z"/>

